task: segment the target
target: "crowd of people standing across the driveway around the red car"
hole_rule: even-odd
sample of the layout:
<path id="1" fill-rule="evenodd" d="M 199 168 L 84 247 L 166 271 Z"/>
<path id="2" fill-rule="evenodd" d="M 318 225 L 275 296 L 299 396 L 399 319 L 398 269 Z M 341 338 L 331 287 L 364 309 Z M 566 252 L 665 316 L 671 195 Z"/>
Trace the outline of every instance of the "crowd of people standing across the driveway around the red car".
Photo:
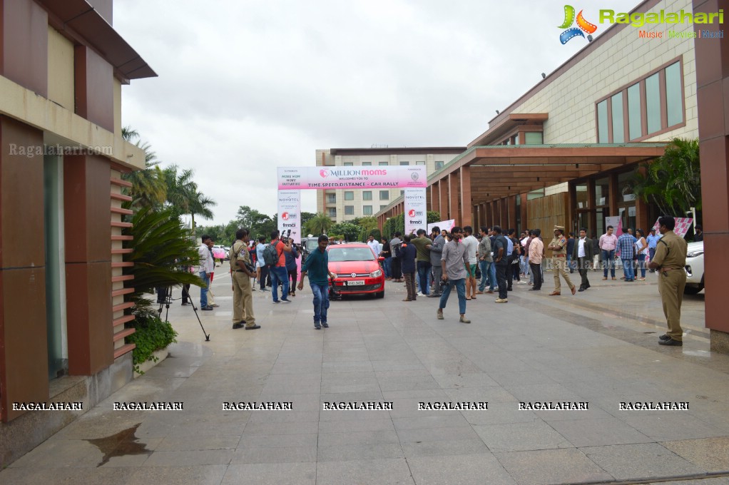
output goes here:
<path id="1" fill-rule="evenodd" d="M 673 233 L 673 217 L 661 217 L 660 230 L 650 230 L 648 236 L 642 229 L 628 228 L 620 237 L 614 234 L 612 225 L 599 238 L 588 238 L 587 230 L 581 228 L 579 236 L 565 234 L 564 227 L 556 225 L 549 244 L 542 239 L 540 229 L 503 230 L 498 225 L 482 226 L 475 233 L 471 226 L 454 227 L 448 230 L 432 228 L 428 234 L 419 229 L 403 235 L 394 233 L 393 238 L 377 241 L 369 236 L 367 245 L 375 255 L 381 256 L 385 279 L 405 285 L 405 302 L 418 297 L 439 298 L 437 319 L 444 319 L 443 310 L 453 288 L 459 303 L 459 322 L 470 323 L 466 317 L 469 300 L 481 298 L 478 295 L 495 294 L 496 303 L 508 303 L 508 292 L 513 284 L 530 285 L 531 291 L 542 290 L 544 271 L 552 271 L 554 289 L 550 296 L 561 295 L 564 280 L 572 295 L 590 288 L 589 271 L 603 270 L 615 280 L 615 266 L 619 259 L 623 267 L 625 282 L 643 281 L 647 271 L 659 271 L 659 287 L 663 309 L 669 331 L 662 335 L 662 345 L 682 345 L 680 327 L 680 306 L 685 285 L 686 242 Z M 701 234 L 701 233 L 699 233 Z M 303 289 L 306 276 L 313 293 L 314 328 L 328 327 L 329 279 L 335 278 L 328 268 L 327 246 L 340 244 L 325 235 L 319 236 L 318 246 L 301 265 L 297 283 L 297 259 L 301 249 L 290 238 L 281 237 L 278 230 L 270 235 L 250 241 L 245 229 L 238 230 L 236 241 L 230 249 L 230 272 L 233 280 L 233 329 L 260 328 L 254 317 L 252 292 L 255 284 L 261 291 L 271 292 L 273 303 L 290 303 L 289 296 L 296 296 L 296 290 Z M 659 243 L 663 244 L 659 244 Z M 210 284 L 214 274 L 212 256 L 213 241 L 203 236 L 199 248 L 200 279 L 204 285 L 200 290 L 200 308 L 211 311 L 217 304 L 212 300 Z M 671 252 L 672 248 L 676 248 Z M 546 250 L 551 258 L 546 259 Z M 571 273 L 577 269 L 580 286 L 572 282 Z M 640 276 L 637 276 L 638 271 Z M 281 297 L 278 296 L 279 287 Z M 187 301 L 189 288 L 183 291 L 183 305 Z"/>

